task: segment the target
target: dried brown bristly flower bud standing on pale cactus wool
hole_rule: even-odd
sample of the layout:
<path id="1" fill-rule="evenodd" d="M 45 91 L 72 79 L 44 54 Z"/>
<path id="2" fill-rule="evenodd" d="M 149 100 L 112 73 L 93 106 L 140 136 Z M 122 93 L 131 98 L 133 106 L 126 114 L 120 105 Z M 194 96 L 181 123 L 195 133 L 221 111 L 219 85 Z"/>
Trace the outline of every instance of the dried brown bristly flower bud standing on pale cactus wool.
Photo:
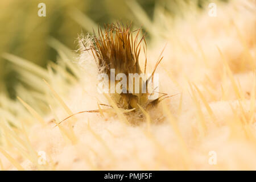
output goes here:
<path id="1" fill-rule="evenodd" d="M 137 32 L 135 38 L 133 33 Z M 139 54 L 141 53 L 141 44 L 144 42 L 144 52 L 146 42 L 144 36 L 139 39 L 141 29 L 131 31 L 131 26 L 123 26 L 120 23 L 106 24 L 104 30 L 98 28 L 98 35 L 94 33 L 94 46 L 91 46 L 94 59 L 98 66 L 99 73 L 106 73 L 111 77 L 111 69 L 115 70 L 116 77 L 118 73 L 123 73 L 127 77 L 127 85 L 122 88 L 122 93 L 110 94 L 117 105 L 123 109 L 137 108 L 138 105 L 143 107 L 152 106 L 158 103 L 159 98 L 156 100 L 148 100 L 150 94 L 148 89 L 148 82 L 154 77 L 154 72 L 160 61 L 156 63 L 155 69 L 149 78 L 139 76 L 142 71 L 139 66 Z M 146 72 L 147 59 L 144 65 L 144 73 Z M 136 81 L 134 77 L 129 74 L 133 73 L 139 76 L 139 92 L 134 92 Z M 138 80 L 137 80 L 138 81 Z M 109 84 L 111 81 L 109 81 Z M 114 81 L 117 84 L 118 81 Z M 129 84 L 128 84 L 129 82 Z M 133 83 L 130 85 L 130 83 Z M 152 86 L 152 85 L 151 85 Z M 109 88 L 110 89 L 110 88 Z M 152 89 L 154 90 L 154 89 Z M 138 105 L 137 105 L 138 104 Z"/>

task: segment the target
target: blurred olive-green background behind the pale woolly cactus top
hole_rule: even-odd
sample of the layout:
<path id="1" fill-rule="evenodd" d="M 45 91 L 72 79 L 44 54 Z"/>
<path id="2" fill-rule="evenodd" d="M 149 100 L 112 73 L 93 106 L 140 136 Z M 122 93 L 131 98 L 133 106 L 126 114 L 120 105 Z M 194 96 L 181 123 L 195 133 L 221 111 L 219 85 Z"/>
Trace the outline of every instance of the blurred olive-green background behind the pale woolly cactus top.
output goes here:
<path id="1" fill-rule="evenodd" d="M 0 55 L 4 52 L 22 57 L 42 67 L 55 61 L 57 52 L 49 46 L 55 38 L 67 47 L 77 49 L 76 38 L 81 32 L 104 23 L 132 21 L 138 27 L 143 24 L 131 12 L 130 0 L 2 0 L 0 1 Z M 46 17 L 38 16 L 38 4 L 46 4 Z M 166 5 L 166 13 L 182 16 L 180 5 L 187 0 L 137 0 L 146 15 L 154 19 L 155 7 Z M 209 1 L 194 0 L 201 9 Z M 150 39 L 150 36 L 147 36 Z M 0 93 L 15 98 L 15 85 L 19 81 L 14 65 L 0 56 Z"/>

